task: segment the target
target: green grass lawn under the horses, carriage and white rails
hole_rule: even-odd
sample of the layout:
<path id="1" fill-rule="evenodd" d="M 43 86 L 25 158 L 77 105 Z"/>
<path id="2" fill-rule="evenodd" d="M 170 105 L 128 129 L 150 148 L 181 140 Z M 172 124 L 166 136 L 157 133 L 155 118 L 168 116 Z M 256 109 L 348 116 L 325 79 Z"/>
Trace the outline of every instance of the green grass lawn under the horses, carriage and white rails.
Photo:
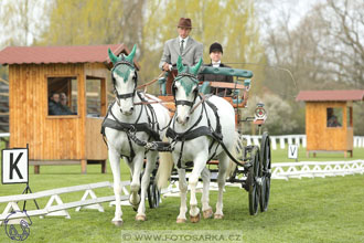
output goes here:
<path id="1" fill-rule="evenodd" d="M 299 160 L 344 160 L 343 154 L 319 154 L 318 158 L 306 158 L 300 150 Z M 354 158 L 363 159 L 364 149 L 354 149 Z M 287 159 L 286 150 L 272 151 L 272 161 L 293 161 Z M 88 173 L 81 175 L 79 166 L 41 167 L 41 175 L 30 168 L 30 187 L 33 191 L 60 187 L 113 181 L 110 168 L 101 175 L 100 166 L 88 166 Z M 121 179 L 128 180 L 129 173 L 122 162 Z M 176 224 L 180 199 L 167 198 L 158 209 L 147 208 L 148 220 L 135 221 L 135 211 L 124 207 L 122 228 L 110 223 L 114 208 L 103 203 L 105 212 L 68 210 L 72 219 L 32 218 L 31 235 L 25 242 L 121 242 L 121 230 L 238 230 L 244 242 L 363 242 L 364 241 L 364 177 L 362 175 L 272 180 L 268 212 L 249 215 L 248 193 L 238 188 L 227 188 L 224 193 L 224 220 L 202 220 L 197 224 L 190 222 Z M 0 184 L 0 196 L 21 193 L 24 184 Z M 61 194 L 64 202 L 76 201 L 83 192 Z M 110 196 L 111 189 L 98 189 L 96 194 Z M 199 203 L 201 194 L 197 194 Z M 211 205 L 215 209 L 217 194 L 211 192 Z M 38 202 L 44 207 L 46 199 Z M 22 203 L 21 203 L 22 205 Z M 148 203 L 147 203 L 148 205 Z M 4 204 L 0 204 L 0 212 Z M 200 204 L 201 207 L 201 204 Z M 32 201 L 28 209 L 34 209 Z M 0 242 L 11 241 L 0 226 Z"/>

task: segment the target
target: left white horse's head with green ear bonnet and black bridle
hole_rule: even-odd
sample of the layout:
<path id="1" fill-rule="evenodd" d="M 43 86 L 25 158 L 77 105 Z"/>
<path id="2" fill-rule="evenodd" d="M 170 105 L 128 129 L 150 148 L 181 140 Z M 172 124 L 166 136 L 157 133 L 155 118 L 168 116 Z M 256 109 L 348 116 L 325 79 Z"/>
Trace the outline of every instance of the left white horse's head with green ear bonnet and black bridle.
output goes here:
<path id="1" fill-rule="evenodd" d="M 133 112 L 133 96 L 137 89 L 137 70 L 133 65 L 133 56 L 137 51 L 137 45 L 133 45 L 129 55 L 121 54 L 116 56 L 111 50 L 108 50 L 109 59 L 114 67 L 111 70 L 111 80 L 116 102 L 124 115 L 130 116 Z"/>

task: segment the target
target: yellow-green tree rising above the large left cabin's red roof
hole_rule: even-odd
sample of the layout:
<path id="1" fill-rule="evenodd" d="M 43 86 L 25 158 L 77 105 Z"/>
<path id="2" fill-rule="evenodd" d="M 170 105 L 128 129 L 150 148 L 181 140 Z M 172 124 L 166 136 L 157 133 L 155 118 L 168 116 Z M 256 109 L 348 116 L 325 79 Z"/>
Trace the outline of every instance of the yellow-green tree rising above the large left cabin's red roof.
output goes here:
<path id="1" fill-rule="evenodd" d="M 42 44 L 141 45 L 144 0 L 53 0 Z"/>

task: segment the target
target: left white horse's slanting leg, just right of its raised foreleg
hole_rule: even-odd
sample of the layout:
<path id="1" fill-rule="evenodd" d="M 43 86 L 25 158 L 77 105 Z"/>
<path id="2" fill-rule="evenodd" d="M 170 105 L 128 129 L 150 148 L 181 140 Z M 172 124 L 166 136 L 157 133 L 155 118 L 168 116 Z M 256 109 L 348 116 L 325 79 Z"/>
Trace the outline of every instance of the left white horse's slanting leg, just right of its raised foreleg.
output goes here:
<path id="1" fill-rule="evenodd" d="M 141 193 L 140 193 L 140 203 L 138 208 L 138 214 L 136 215 L 136 220 L 146 221 L 146 193 L 150 182 L 150 173 L 156 168 L 158 152 L 149 151 L 147 154 L 147 165 L 144 169 L 144 173 L 141 178 Z"/>

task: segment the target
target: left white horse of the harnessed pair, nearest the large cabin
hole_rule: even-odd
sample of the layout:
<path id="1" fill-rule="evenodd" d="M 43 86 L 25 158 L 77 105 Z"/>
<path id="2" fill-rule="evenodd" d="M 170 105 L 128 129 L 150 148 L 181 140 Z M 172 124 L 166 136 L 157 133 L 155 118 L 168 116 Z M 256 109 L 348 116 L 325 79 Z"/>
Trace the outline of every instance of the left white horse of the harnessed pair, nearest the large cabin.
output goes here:
<path id="1" fill-rule="evenodd" d="M 111 78 L 114 83 L 116 102 L 109 107 L 108 114 L 104 119 L 103 129 L 108 146 L 108 156 L 114 176 L 114 192 L 116 198 L 116 210 L 113 223 L 122 224 L 122 211 L 120 207 L 120 158 L 129 166 L 132 181 L 130 184 L 129 201 L 138 208 L 136 220 L 146 220 L 146 191 L 150 182 L 150 173 L 156 167 L 158 157 L 157 151 L 149 150 L 142 146 L 138 146 L 132 136 L 141 141 L 161 140 L 164 137 L 162 128 L 168 126 L 170 115 L 168 109 L 161 104 L 156 104 L 157 97 L 144 95 L 136 92 L 137 87 L 137 70 L 133 65 L 133 56 L 136 45 L 128 56 L 115 56 L 108 50 L 109 57 L 114 64 L 111 70 Z M 144 103 L 152 97 L 154 104 L 146 105 Z M 140 176 L 147 157 L 144 173 Z M 163 156 L 160 156 L 163 159 Z M 139 207 L 138 207 L 139 204 Z"/>

